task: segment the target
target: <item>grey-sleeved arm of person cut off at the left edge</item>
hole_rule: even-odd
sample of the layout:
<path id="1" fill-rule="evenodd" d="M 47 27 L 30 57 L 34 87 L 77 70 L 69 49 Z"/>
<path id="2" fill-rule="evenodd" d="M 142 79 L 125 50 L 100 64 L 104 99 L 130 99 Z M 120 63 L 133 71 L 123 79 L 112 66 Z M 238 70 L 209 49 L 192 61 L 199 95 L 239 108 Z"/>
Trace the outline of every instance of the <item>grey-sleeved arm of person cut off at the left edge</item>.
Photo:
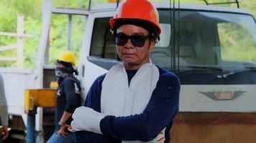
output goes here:
<path id="1" fill-rule="evenodd" d="M 0 74 L 0 120 L 1 120 L 1 129 L 0 129 L 0 143 L 2 140 L 6 139 L 9 135 L 8 132 L 8 107 L 4 92 L 4 78 Z M 4 133 L 4 134 L 2 134 Z"/>

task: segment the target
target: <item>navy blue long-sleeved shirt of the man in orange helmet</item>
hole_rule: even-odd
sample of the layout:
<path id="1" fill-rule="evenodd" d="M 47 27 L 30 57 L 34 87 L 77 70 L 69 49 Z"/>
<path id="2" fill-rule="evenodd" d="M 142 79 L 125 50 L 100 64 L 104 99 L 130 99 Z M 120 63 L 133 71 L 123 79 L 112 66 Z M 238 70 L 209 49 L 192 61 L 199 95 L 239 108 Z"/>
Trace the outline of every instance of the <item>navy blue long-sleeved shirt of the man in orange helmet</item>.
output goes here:
<path id="1" fill-rule="evenodd" d="M 152 93 L 150 102 L 142 114 L 128 117 L 106 116 L 101 119 L 100 127 L 103 134 L 93 132 L 76 132 L 77 143 L 120 143 L 121 140 L 150 141 L 165 129 L 165 143 L 170 142 L 170 128 L 173 118 L 178 112 L 180 82 L 170 71 L 159 68 L 160 77 Z M 136 71 L 127 70 L 130 81 Z M 101 83 L 106 74 L 93 82 L 86 97 L 85 105 L 101 112 Z M 143 86 L 143 85 L 142 85 Z"/>

